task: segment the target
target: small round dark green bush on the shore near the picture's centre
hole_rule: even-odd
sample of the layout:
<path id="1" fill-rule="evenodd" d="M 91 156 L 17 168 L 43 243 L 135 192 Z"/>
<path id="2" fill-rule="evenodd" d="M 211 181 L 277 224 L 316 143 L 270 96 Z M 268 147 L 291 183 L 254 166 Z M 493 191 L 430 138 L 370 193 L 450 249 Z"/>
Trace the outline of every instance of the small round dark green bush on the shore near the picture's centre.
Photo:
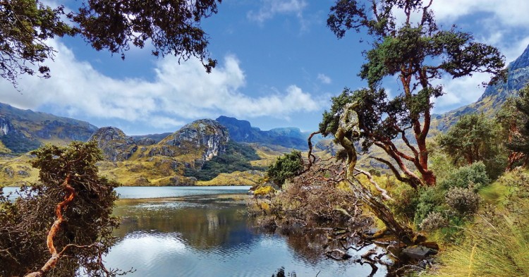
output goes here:
<path id="1" fill-rule="evenodd" d="M 279 156 L 274 164 L 268 167 L 267 175 L 272 182 L 281 187 L 285 180 L 297 176 L 303 171 L 303 164 L 301 152 L 293 150 L 288 154 Z"/>

